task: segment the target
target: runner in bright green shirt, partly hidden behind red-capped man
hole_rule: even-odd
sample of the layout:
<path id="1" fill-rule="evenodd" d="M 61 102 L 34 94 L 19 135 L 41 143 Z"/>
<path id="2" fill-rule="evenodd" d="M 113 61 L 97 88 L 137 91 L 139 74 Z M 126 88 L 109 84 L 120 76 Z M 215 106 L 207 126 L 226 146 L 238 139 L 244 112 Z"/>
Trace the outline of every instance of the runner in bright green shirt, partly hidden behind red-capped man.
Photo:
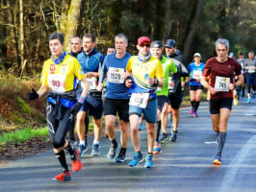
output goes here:
<path id="1" fill-rule="evenodd" d="M 163 56 L 163 44 L 159 40 L 155 40 L 151 43 L 150 53 L 153 57 L 161 60 L 162 67 L 164 69 L 165 78 L 164 85 L 162 88 L 157 88 L 157 100 L 158 100 L 158 129 L 156 141 L 154 144 L 153 154 L 162 153 L 161 144 L 159 143 L 159 134 L 162 128 L 163 132 L 167 130 L 168 123 L 168 85 L 173 86 L 174 83 L 172 81 L 168 81 L 168 76 L 170 73 L 177 73 L 177 67 L 175 63 Z"/>

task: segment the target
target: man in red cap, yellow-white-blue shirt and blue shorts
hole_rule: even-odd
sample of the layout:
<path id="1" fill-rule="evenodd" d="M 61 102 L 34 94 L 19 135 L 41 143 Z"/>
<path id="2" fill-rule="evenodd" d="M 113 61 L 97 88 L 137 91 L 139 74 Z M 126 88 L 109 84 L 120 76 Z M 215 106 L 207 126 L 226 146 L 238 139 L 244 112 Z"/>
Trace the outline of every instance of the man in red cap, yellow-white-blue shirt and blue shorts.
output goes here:
<path id="1" fill-rule="evenodd" d="M 133 56 L 126 66 L 125 84 L 131 87 L 129 119 L 131 138 L 134 146 L 134 159 L 129 165 L 135 167 L 143 160 L 140 147 L 139 119 L 141 112 L 146 121 L 148 151 L 144 167 L 154 167 L 153 147 L 155 140 L 155 123 L 157 122 L 156 87 L 164 84 L 164 71 L 160 60 L 150 55 L 150 38 L 141 36 L 138 39 L 138 56 Z"/>

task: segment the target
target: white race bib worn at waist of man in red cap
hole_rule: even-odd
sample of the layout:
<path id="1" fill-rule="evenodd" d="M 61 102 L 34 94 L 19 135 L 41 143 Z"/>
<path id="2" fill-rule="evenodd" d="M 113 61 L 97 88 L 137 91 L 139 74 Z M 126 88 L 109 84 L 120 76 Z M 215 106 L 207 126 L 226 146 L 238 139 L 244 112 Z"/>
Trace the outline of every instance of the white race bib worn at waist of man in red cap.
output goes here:
<path id="1" fill-rule="evenodd" d="M 129 105 L 145 108 L 148 102 L 149 93 L 132 93 Z"/>

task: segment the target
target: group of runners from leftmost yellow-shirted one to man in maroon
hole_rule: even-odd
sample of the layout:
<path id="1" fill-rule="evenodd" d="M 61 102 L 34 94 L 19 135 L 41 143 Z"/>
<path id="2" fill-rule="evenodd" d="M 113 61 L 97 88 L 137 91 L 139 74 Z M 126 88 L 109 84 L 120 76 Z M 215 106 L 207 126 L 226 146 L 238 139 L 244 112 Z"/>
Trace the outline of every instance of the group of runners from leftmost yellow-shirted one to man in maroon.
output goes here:
<path id="1" fill-rule="evenodd" d="M 154 167 L 153 154 L 162 152 L 160 143 L 165 143 L 167 139 L 173 142 L 177 139 L 179 108 L 185 83 L 190 84 L 191 113 L 195 117 L 198 116 L 197 108 L 202 85 L 211 93 L 210 112 L 213 129 L 218 132 L 218 154 L 214 163 L 221 164 L 220 157 L 225 143 L 227 121 L 232 108 L 232 91 L 236 86 L 243 84 L 239 63 L 227 57 L 228 40 L 222 38 L 217 40 L 218 56 L 207 60 L 206 64 L 200 61 L 201 55 L 195 53 L 194 62 L 189 65 L 189 70 L 184 66 L 183 57 L 177 50 L 174 39 L 167 39 L 164 46 L 160 40 L 151 41 L 149 37 L 141 36 L 137 42 L 137 56 L 131 56 L 126 51 L 128 38 L 123 34 L 115 36 L 115 53 L 106 57 L 95 49 L 94 35 L 86 34 L 83 39 L 72 38 L 72 47 L 76 45 L 79 47 L 79 43 L 80 45 L 82 43 L 82 49 L 81 47 L 72 49 L 68 55 L 64 51 L 64 35 L 52 34 L 49 37 L 52 56 L 43 64 L 41 86 L 38 91 L 33 89 L 29 93 L 29 99 L 35 100 L 50 89 L 47 94 L 47 125 L 54 152 L 63 168 L 63 173 L 54 177 L 54 180 L 70 180 L 64 149 L 71 156 L 72 170 L 81 170 L 80 157 L 88 150 L 85 136 L 88 127 L 85 122 L 88 115 L 92 115 L 94 125 L 91 156 L 100 155 L 99 138 L 102 132 L 103 112 L 110 139 L 107 157 L 115 158 L 115 162 L 125 161 L 129 133 L 131 133 L 135 151 L 133 159 L 129 162 L 131 167 L 143 161 L 139 133 L 140 117 L 143 114 L 148 143 L 144 167 Z M 166 55 L 163 54 L 164 49 Z M 188 76 L 189 78 L 186 79 Z M 235 76 L 236 83 L 234 83 Z M 166 132 L 169 112 L 172 115 L 170 136 Z M 115 138 L 117 114 L 121 131 L 120 144 Z M 70 145 L 71 140 L 74 139 L 72 130 L 75 116 L 79 137 L 78 150 Z M 157 132 L 156 123 L 158 123 Z M 69 130 L 71 136 L 66 139 Z M 118 145 L 120 149 L 116 156 Z"/>

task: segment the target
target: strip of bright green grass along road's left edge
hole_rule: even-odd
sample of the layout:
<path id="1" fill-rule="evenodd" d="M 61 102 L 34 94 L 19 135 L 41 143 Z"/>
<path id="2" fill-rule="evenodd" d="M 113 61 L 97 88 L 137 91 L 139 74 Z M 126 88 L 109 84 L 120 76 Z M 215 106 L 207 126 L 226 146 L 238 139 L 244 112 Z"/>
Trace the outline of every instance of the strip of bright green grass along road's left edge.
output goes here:
<path id="1" fill-rule="evenodd" d="M 0 146 L 9 144 L 19 144 L 35 137 L 45 137 L 47 139 L 48 130 L 46 127 L 38 129 L 25 128 L 15 132 L 4 132 L 0 135 Z"/>

